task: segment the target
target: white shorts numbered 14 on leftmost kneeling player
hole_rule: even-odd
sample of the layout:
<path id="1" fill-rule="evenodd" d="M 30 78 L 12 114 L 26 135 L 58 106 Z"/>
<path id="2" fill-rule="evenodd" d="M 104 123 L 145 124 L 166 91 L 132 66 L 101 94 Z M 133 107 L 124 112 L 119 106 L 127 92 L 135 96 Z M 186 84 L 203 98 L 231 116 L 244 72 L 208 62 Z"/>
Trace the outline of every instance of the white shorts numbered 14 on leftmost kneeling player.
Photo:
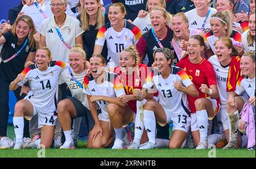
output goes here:
<path id="1" fill-rule="evenodd" d="M 49 113 L 42 113 L 36 110 L 35 105 L 30 101 L 30 99 L 26 99 L 28 100 L 32 105 L 33 105 L 33 116 L 24 116 L 25 119 L 27 120 L 31 120 L 32 117 L 38 115 L 38 128 L 42 128 L 43 125 L 53 125 L 55 126 L 56 121 L 57 121 L 57 113 L 56 112 L 49 112 Z"/>

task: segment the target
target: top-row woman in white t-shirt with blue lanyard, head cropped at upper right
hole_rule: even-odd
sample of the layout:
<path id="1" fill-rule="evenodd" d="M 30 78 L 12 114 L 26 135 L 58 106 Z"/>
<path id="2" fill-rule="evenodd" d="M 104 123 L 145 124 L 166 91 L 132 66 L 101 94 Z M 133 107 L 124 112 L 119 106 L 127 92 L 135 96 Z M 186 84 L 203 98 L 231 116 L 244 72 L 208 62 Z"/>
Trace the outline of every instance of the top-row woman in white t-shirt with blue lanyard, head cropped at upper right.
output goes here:
<path id="1" fill-rule="evenodd" d="M 195 9 L 185 12 L 189 20 L 189 28 L 197 28 L 205 34 L 210 31 L 210 16 L 217 12 L 209 7 L 210 0 L 194 0 Z"/>

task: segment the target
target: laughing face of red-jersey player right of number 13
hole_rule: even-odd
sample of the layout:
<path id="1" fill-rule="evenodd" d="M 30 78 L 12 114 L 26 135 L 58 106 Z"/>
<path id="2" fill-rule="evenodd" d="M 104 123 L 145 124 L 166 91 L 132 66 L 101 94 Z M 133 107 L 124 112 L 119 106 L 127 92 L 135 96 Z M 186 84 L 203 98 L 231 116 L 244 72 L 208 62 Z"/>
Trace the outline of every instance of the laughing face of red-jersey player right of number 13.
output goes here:
<path id="1" fill-rule="evenodd" d="M 188 56 L 191 60 L 197 60 L 197 58 L 201 57 L 201 52 L 203 52 L 204 47 L 200 46 L 200 43 L 196 39 L 188 40 Z"/>

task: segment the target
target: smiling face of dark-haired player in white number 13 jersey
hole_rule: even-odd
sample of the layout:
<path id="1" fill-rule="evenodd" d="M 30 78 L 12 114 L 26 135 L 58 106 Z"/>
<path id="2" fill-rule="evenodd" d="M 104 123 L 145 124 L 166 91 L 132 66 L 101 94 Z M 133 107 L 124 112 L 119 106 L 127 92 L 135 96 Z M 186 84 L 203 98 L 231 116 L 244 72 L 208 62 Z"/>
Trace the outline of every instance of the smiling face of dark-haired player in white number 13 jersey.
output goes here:
<path id="1" fill-rule="evenodd" d="M 171 60 L 167 61 L 166 56 L 162 52 L 158 52 L 154 57 L 155 66 L 158 68 L 159 73 L 163 73 L 170 69 Z"/>

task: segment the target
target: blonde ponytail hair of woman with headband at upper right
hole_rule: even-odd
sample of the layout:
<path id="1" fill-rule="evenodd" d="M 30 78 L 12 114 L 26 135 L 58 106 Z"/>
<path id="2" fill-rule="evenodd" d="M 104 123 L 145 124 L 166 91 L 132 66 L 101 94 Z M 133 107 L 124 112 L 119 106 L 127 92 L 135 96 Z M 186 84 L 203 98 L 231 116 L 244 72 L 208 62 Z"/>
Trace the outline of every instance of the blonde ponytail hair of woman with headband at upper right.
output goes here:
<path id="1" fill-rule="evenodd" d="M 228 27 L 226 29 L 226 36 L 230 37 L 232 35 L 232 23 L 230 20 L 231 17 L 230 17 L 229 11 L 217 12 L 212 15 L 212 18 L 217 18 L 218 20 L 220 20 L 220 22 L 223 26 L 226 25 Z"/>

